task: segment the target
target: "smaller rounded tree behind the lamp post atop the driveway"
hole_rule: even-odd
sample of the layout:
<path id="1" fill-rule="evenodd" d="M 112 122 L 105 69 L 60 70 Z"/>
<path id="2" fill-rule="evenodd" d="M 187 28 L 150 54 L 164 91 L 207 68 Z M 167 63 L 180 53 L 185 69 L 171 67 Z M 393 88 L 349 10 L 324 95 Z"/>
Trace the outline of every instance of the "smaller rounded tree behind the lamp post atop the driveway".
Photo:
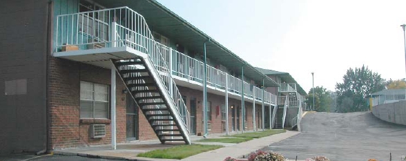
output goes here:
<path id="1" fill-rule="evenodd" d="M 307 104 L 313 106 L 313 90 L 314 90 L 314 107 L 318 112 L 329 112 L 331 97 L 330 92 L 323 86 L 311 88 L 307 97 Z"/>

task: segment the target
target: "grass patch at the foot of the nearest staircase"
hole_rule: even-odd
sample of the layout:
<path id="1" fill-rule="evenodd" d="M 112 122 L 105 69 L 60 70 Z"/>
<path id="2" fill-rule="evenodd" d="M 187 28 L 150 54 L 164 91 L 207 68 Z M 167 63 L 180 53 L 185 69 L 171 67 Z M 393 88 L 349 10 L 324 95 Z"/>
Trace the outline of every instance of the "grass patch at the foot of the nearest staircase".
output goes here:
<path id="1" fill-rule="evenodd" d="M 148 151 L 146 153 L 139 153 L 137 156 L 145 158 L 166 158 L 166 159 L 183 159 L 188 158 L 191 155 L 196 155 L 205 151 L 212 151 L 214 149 L 222 148 L 220 145 L 180 145 L 174 146 L 168 149 L 160 149 L 155 151 Z"/>

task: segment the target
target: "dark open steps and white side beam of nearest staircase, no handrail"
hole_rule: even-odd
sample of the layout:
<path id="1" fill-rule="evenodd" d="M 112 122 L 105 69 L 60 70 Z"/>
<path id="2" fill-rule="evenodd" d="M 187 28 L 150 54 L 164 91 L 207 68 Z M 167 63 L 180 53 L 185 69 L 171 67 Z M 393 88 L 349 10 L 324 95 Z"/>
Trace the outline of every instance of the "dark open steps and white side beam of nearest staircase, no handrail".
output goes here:
<path id="1" fill-rule="evenodd" d="M 139 57 L 113 60 L 113 64 L 162 144 L 168 141 L 191 144 L 189 131 L 184 124 L 186 115 L 177 111 L 175 103 L 165 91 L 164 82 L 157 77 L 157 70 L 153 66 L 151 68 L 151 62 L 146 61 Z"/>

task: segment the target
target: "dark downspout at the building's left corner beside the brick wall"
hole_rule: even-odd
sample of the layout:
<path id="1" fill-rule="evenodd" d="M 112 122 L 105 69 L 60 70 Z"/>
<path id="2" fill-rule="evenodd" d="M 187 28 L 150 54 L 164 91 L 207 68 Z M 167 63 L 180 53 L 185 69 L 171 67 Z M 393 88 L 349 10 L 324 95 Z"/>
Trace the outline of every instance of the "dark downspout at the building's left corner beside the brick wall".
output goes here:
<path id="1" fill-rule="evenodd" d="M 51 22 L 52 22 L 52 1 L 48 1 L 47 10 L 46 10 L 46 52 L 43 53 L 43 69 L 45 72 L 43 84 L 45 85 L 45 93 L 43 98 L 45 99 L 45 117 L 43 118 L 43 149 L 35 153 L 35 155 L 41 155 L 48 151 L 48 117 L 49 117 L 49 102 L 48 102 L 48 56 L 51 55 L 50 47 L 51 45 Z"/>

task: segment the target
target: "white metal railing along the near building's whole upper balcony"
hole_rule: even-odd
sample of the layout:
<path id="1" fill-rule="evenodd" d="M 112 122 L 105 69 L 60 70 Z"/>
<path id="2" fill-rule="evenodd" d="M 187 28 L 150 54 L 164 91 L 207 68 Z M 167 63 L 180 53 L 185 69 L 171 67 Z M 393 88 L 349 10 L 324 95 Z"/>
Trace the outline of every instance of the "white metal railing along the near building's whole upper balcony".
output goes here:
<path id="1" fill-rule="evenodd" d="M 171 75 L 202 83 L 204 63 L 154 41 L 146 23 L 140 25 L 142 21 L 144 17 L 126 7 L 59 15 L 55 51 L 64 51 L 72 45 L 78 50 L 128 46 L 145 53 L 160 53 L 149 56 L 161 75 L 171 71 Z M 244 86 L 244 97 L 258 102 L 263 100 L 266 104 L 276 104 L 278 100 L 276 95 L 267 91 L 262 93 L 262 89 L 247 82 L 242 84 L 241 79 L 213 66 L 207 65 L 206 69 L 206 81 L 211 88 L 224 91 L 227 84 L 229 93 L 241 95 Z"/>

